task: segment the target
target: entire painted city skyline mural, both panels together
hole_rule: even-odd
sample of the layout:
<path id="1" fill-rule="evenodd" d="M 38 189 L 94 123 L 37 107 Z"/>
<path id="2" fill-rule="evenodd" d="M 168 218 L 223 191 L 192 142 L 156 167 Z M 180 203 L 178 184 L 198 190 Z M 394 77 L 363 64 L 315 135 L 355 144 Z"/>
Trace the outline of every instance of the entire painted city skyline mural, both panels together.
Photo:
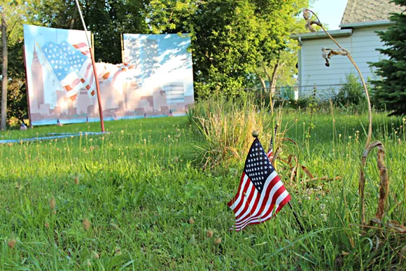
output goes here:
<path id="1" fill-rule="evenodd" d="M 32 125 L 99 121 L 85 32 L 25 25 L 24 36 Z M 189 44 L 178 35 L 125 35 L 126 63 L 96 64 L 105 120 L 183 115 L 193 104 Z"/>

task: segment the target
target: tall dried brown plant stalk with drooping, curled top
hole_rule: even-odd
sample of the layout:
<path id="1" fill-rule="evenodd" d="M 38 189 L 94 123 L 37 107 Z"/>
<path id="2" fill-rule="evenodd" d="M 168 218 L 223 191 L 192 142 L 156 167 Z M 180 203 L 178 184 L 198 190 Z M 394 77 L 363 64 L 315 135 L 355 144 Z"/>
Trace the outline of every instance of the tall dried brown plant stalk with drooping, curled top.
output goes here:
<path id="1" fill-rule="evenodd" d="M 306 8 L 303 12 L 304 20 L 309 21 L 311 18 L 311 15 L 314 15 L 316 17 L 316 20 L 318 22 L 316 25 L 320 26 L 321 29 L 323 29 L 323 32 L 339 47 L 339 49 L 322 48 L 322 56 L 326 61 L 325 66 L 328 66 L 328 67 L 330 66 L 330 63 L 328 62 L 328 60 L 333 55 L 344 55 L 344 56 L 348 57 L 349 60 L 351 61 L 351 63 L 353 64 L 353 67 L 355 67 L 356 70 L 358 71 L 358 74 L 360 76 L 360 81 L 365 90 L 365 96 L 367 97 L 369 125 L 368 125 L 368 132 L 367 132 L 367 140 L 365 142 L 365 148 L 364 148 L 363 155 L 361 158 L 360 179 L 358 182 L 358 191 L 360 194 L 360 224 L 361 224 L 361 228 L 364 230 L 364 228 L 365 228 L 365 200 L 364 200 L 365 174 L 364 174 L 364 169 L 365 169 L 365 165 L 367 163 L 367 155 L 368 155 L 368 153 L 370 153 L 372 148 L 375 148 L 375 147 L 377 147 L 379 149 L 379 151 L 378 151 L 378 168 L 379 168 L 379 175 L 380 175 L 380 179 L 381 179 L 380 188 L 379 188 L 377 217 L 383 216 L 383 214 L 384 214 L 384 205 L 386 202 L 386 197 L 388 195 L 388 188 L 389 188 L 388 174 L 386 173 L 386 167 L 384 165 L 384 155 L 385 155 L 384 145 L 381 144 L 380 141 L 375 141 L 374 143 L 370 144 L 371 138 L 372 138 L 372 108 L 371 108 L 371 102 L 370 102 L 370 94 L 368 92 L 367 85 L 365 84 L 363 75 L 361 74 L 361 71 L 358 68 L 358 65 L 351 57 L 351 53 L 349 53 L 348 50 L 342 48 L 342 46 L 340 46 L 339 43 L 325 30 L 325 28 L 323 27 L 323 24 L 321 24 L 317 15 L 313 11 L 310 11 L 309 9 Z"/>

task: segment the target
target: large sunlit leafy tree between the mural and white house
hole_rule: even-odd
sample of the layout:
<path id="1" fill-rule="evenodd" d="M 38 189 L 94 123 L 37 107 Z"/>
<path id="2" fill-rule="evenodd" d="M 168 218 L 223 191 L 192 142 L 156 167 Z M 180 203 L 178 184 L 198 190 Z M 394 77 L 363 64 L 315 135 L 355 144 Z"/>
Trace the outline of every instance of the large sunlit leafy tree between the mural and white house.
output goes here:
<path id="1" fill-rule="evenodd" d="M 260 76 L 291 48 L 293 16 L 303 3 L 308 0 L 153 0 L 148 21 L 157 33 L 190 33 L 198 96 L 235 96 L 265 83 Z"/>

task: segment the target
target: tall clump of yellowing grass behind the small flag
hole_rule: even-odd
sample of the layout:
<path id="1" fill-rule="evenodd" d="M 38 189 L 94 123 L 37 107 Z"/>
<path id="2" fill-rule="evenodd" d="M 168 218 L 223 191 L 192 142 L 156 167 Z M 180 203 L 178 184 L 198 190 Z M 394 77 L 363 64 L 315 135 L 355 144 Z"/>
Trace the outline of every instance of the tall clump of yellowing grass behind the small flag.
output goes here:
<path id="1" fill-rule="evenodd" d="M 204 168 L 222 162 L 244 158 L 251 144 L 251 132 L 257 130 L 262 137 L 273 123 L 265 108 L 251 99 L 211 98 L 200 101 L 188 113 L 188 118 L 205 140 L 198 147 L 197 159 Z"/>

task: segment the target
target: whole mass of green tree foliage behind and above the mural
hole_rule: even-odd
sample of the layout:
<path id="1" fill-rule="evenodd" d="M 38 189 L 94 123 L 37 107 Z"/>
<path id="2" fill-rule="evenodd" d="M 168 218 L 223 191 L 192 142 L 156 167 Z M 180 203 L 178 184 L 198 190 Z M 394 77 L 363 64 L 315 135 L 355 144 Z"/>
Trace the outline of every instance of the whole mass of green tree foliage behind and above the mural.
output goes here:
<path id="1" fill-rule="evenodd" d="M 121 33 L 188 32 L 192 39 L 195 96 L 244 97 L 280 60 L 278 80 L 290 82 L 295 73 L 297 13 L 308 0 L 80 0 L 87 28 L 94 34 L 97 61 L 121 62 Z M 1 1 L 13 6 L 10 45 L 10 116 L 27 116 L 22 71 L 22 23 L 63 29 L 83 29 L 75 1 Z M 265 69 L 264 69 L 265 67 Z"/>

